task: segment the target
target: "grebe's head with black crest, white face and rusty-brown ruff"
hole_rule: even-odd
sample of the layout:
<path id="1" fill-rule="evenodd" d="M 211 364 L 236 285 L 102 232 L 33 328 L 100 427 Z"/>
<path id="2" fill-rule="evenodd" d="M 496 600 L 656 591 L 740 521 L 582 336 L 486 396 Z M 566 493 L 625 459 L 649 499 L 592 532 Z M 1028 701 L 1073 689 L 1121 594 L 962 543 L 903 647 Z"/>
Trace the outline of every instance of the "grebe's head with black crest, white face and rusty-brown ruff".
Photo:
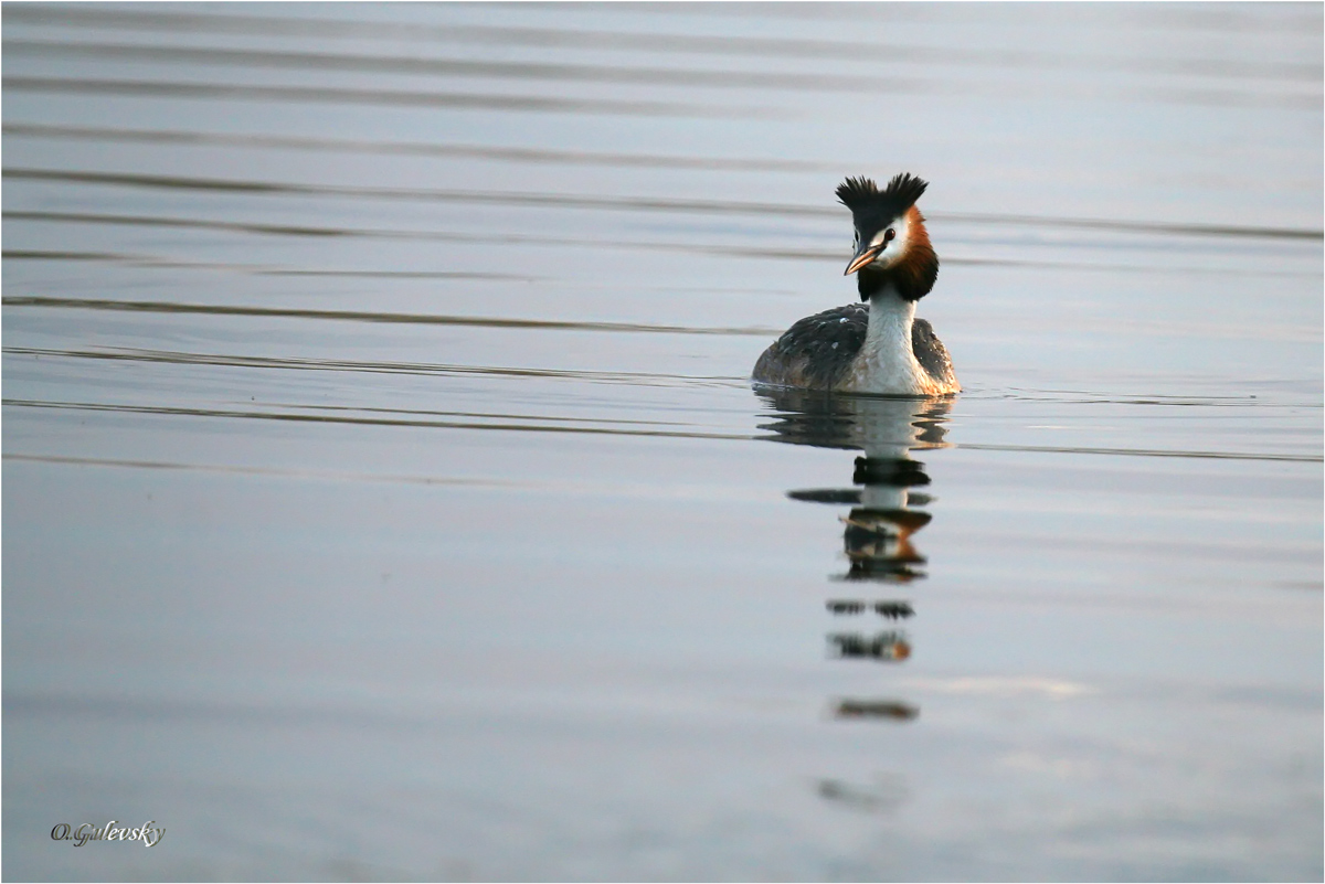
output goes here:
<path id="1" fill-rule="evenodd" d="M 837 199 L 851 209 L 856 226 L 855 254 L 845 275 L 860 271 L 860 296 L 892 282 L 908 300 L 929 294 L 938 277 L 938 257 L 929 243 L 925 217 L 916 208 L 928 181 L 901 173 L 882 191 L 867 177 L 837 185 Z"/>

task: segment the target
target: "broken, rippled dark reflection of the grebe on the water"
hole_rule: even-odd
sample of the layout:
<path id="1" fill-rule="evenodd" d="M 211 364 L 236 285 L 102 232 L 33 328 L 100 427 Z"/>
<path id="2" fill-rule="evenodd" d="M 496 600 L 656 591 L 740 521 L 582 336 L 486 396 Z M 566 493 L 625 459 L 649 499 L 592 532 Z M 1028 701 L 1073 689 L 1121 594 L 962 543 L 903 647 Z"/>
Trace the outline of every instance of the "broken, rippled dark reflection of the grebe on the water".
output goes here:
<path id="1" fill-rule="evenodd" d="M 946 447 L 943 422 L 951 408 L 947 400 L 917 400 L 865 396 L 833 396 L 806 390 L 765 390 L 774 420 L 761 425 L 774 442 L 864 451 L 852 471 L 851 488 L 788 491 L 794 500 L 849 506 L 839 515 L 844 524 L 843 547 L 847 573 L 837 580 L 864 590 L 877 586 L 881 598 L 829 598 L 827 609 L 839 617 L 871 614 L 892 622 L 881 631 L 837 631 L 828 635 L 831 652 L 839 658 L 900 663 L 910 656 L 906 631 L 897 627 L 914 615 L 912 601 L 896 598 L 902 586 L 925 577 L 925 556 L 914 535 L 933 516 L 922 509 L 933 498 L 920 488 L 929 486 L 925 464 L 912 451 Z M 897 700 L 845 699 L 833 707 L 839 719 L 888 719 L 910 721 L 920 709 Z"/>

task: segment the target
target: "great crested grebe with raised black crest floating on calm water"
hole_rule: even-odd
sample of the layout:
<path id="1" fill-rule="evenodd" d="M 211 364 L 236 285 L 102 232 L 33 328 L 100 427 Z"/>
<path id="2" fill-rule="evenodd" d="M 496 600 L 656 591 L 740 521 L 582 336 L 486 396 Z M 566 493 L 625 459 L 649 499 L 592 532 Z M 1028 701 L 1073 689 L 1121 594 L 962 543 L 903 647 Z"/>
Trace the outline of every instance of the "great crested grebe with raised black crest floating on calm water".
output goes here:
<path id="1" fill-rule="evenodd" d="M 856 225 L 856 253 L 844 275 L 856 274 L 865 303 L 798 322 L 755 363 L 755 381 L 893 396 L 961 392 L 947 349 L 928 322 L 916 319 L 916 302 L 938 278 L 938 255 L 916 208 L 926 187 L 909 173 L 882 191 L 865 177 L 837 187 Z"/>

